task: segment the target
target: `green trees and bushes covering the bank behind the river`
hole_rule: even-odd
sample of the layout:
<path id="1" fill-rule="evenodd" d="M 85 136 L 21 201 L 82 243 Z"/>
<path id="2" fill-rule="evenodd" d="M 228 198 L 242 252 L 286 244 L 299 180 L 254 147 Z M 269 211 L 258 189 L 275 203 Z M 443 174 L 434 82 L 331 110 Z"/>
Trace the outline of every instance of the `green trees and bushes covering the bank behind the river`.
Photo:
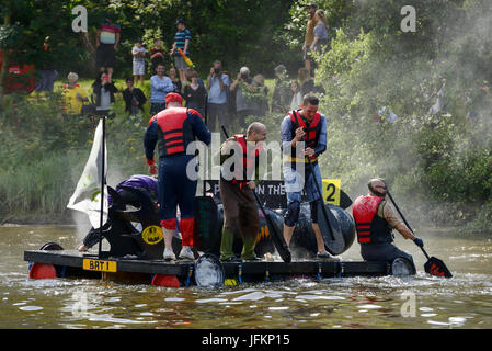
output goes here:
<path id="1" fill-rule="evenodd" d="M 352 197 L 366 192 L 369 178 L 384 177 L 396 197 L 404 200 L 411 222 L 467 223 L 471 229 L 492 230 L 492 3 L 488 0 L 2 1 L 0 48 L 11 49 L 10 59 L 15 61 L 39 67 L 45 61 L 56 64 L 61 77 L 70 70 L 91 77 L 95 32 L 110 16 L 122 25 L 115 71 L 123 78 L 131 75 L 135 39 L 142 37 L 150 49 L 159 36 L 169 48 L 174 22 L 183 18 L 192 32 L 191 58 L 202 77 L 218 58 L 232 75 L 245 65 L 273 77 L 273 68 L 284 64 L 296 78 L 302 66 L 308 2 L 327 11 L 330 25 L 331 49 L 318 55 L 316 71 L 317 83 L 327 91 L 320 110 L 329 118 L 329 145 L 321 157 L 323 176 L 341 178 Z M 78 4 L 88 9 L 85 34 L 71 31 L 71 9 Z M 416 10 L 415 32 L 404 33 L 400 27 L 404 5 Z M 53 46 L 49 55 L 41 49 L 46 36 Z M 431 113 L 439 90 L 445 94 L 445 109 Z M 398 115 L 394 124 L 375 121 L 382 106 Z M 38 123 L 49 123 L 50 109 L 43 109 Z M 25 121 L 33 111 L 28 103 L 19 106 Z M 474 113 L 471 117 L 470 112 Z M 19 136 L 18 129 L 8 131 L 11 111 L 2 116 L 3 123 L 9 122 L 2 126 L 3 140 Z M 270 135 L 278 134 L 282 118 L 271 114 L 262 120 L 275 131 Z M 61 132 L 55 133 L 54 127 Z M 65 128 L 66 124 L 55 123 L 48 129 L 24 133 L 22 137 L 31 143 L 25 149 L 22 144 L 3 148 L 3 160 L 9 161 L 2 162 L 2 170 L 13 172 L 21 163 L 18 155 L 39 155 L 28 150 L 44 149 L 45 158 L 53 159 L 60 151 L 57 145 L 73 151 L 87 148 L 90 136 L 81 137 L 84 133 L 76 126 L 76 132 Z M 42 143 L 43 131 L 52 131 L 46 143 Z M 116 143 L 141 157 L 141 133 L 128 131 L 118 129 Z M 15 174 L 10 178 L 19 179 L 20 173 Z M 52 178 L 56 179 L 46 177 Z M 16 189 L 10 184 L 7 190 L 10 194 L 27 192 Z M 41 202 L 26 202 L 25 208 Z"/>

